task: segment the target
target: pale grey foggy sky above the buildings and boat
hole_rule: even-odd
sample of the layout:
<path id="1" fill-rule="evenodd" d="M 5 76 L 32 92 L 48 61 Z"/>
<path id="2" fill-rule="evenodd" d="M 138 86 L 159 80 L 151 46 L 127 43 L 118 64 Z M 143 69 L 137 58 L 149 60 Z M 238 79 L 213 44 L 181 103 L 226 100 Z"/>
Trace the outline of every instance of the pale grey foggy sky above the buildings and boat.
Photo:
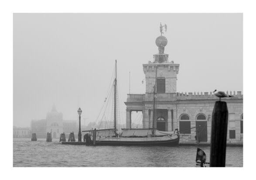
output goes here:
<path id="1" fill-rule="evenodd" d="M 177 92 L 242 91 L 242 13 L 14 13 L 14 125 L 44 119 L 53 104 L 65 120 L 95 121 L 115 59 L 119 96 L 144 93 L 142 64 L 158 53 L 167 24 Z M 125 105 L 123 122 L 125 122 Z"/>

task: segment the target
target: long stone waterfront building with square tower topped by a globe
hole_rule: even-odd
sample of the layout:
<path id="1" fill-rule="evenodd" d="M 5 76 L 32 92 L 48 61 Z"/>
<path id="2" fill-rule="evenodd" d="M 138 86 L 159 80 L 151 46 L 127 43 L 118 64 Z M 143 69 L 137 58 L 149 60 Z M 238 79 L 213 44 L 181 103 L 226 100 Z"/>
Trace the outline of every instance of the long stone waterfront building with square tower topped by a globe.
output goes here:
<path id="1" fill-rule="evenodd" d="M 156 84 L 155 124 L 160 131 L 180 131 L 181 143 L 195 143 L 195 136 L 201 143 L 210 143 L 212 111 L 218 98 L 212 93 L 177 92 L 179 64 L 168 60 L 164 53 L 167 39 L 156 39 L 159 53 L 153 55 L 153 62 L 143 64 L 146 79 L 145 94 L 128 94 L 126 104 L 126 128 L 131 128 L 131 112 L 142 111 L 143 128 L 153 128 L 154 86 Z M 226 92 L 233 95 L 225 98 L 229 110 L 228 143 L 243 141 L 243 95 L 241 92 Z"/>

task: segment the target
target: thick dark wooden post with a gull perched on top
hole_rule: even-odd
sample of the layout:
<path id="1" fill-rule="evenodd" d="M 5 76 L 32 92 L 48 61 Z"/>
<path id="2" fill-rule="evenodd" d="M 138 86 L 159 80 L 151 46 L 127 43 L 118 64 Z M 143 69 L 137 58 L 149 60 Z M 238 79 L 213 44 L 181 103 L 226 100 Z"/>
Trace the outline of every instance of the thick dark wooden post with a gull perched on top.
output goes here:
<path id="1" fill-rule="evenodd" d="M 227 103 L 216 101 L 212 112 L 210 167 L 225 167 L 228 118 Z"/>

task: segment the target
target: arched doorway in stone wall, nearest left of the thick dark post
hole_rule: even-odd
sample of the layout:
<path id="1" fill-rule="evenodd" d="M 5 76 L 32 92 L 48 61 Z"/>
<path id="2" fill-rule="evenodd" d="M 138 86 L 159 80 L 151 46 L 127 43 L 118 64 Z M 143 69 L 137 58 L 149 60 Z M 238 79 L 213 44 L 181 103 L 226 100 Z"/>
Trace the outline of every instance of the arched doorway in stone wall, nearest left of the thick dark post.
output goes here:
<path id="1" fill-rule="evenodd" d="M 203 114 L 200 114 L 196 118 L 196 135 L 199 137 L 200 142 L 207 142 L 207 121 Z"/>

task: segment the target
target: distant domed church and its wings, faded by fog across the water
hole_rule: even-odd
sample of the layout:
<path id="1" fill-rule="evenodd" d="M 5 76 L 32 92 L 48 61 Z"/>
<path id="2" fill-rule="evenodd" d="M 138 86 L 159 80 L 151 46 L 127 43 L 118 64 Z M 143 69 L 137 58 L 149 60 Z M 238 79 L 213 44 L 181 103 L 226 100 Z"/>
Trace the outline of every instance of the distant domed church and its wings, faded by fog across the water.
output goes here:
<path id="1" fill-rule="evenodd" d="M 62 113 L 56 110 L 55 105 L 47 113 L 46 119 L 31 121 L 31 132 L 36 133 L 38 138 L 46 138 L 47 132 L 52 133 L 52 138 L 59 138 L 61 133 L 69 134 L 73 131 L 78 131 L 76 121 L 63 120 Z"/>

